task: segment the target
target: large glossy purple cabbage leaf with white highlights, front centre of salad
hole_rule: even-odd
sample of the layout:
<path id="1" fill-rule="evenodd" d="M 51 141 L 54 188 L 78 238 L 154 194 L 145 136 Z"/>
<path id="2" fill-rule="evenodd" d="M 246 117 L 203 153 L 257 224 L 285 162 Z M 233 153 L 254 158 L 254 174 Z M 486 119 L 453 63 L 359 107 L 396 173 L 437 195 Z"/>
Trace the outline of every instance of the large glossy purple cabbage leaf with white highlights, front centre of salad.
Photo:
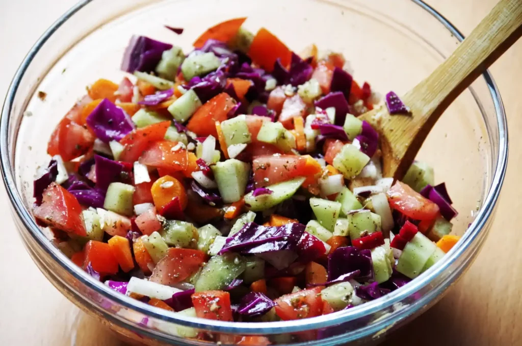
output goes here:
<path id="1" fill-rule="evenodd" d="M 227 241 L 219 251 L 222 255 L 228 251 L 240 253 L 263 253 L 278 250 L 293 250 L 297 248 L 305 226 L 294 223 L 279 227 L 260 226 L 250 222 Z"/>

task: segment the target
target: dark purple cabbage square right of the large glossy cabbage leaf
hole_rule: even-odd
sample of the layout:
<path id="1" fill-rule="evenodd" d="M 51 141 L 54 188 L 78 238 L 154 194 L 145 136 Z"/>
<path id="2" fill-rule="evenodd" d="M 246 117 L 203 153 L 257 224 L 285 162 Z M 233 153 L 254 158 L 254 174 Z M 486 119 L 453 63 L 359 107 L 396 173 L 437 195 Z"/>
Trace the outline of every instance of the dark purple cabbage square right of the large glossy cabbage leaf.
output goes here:
<path id="1" fill-rule="evenodd" d="M 370 250 L 358 250 L 353 246 L 337 248 L 328 256 L 328 281 L 338 279 L 341 275 L 360 271 L 355 280 L 373 280 L 372 253 Z"/>

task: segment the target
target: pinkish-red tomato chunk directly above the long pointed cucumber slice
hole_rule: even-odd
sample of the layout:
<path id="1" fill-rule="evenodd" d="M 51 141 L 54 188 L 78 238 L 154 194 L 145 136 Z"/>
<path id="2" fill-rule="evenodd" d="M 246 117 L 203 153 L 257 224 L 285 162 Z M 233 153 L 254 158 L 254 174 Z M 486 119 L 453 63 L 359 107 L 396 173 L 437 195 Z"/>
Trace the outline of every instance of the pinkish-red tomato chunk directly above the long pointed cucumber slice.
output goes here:
<path id="1" fill-rule="evenodd" d="M 263 155 L 252 161 L 256 187 L 269 186 L 295 177 L 306 176 L 306 157 L 295 155 Z"/>

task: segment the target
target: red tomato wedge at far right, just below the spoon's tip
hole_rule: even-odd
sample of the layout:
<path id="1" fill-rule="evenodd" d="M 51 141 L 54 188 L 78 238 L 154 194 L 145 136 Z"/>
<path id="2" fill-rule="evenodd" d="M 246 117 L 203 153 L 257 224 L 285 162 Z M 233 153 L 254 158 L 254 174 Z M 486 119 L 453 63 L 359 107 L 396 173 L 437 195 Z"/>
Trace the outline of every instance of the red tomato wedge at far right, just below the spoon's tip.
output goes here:
<path id="1" fill-rule="evenodd" d="M 403 182 L 397 181 L 386 194 L 392 209 L 414 220 L 433 220 L 439 212 L 437 204 L 422 197 Z"/>

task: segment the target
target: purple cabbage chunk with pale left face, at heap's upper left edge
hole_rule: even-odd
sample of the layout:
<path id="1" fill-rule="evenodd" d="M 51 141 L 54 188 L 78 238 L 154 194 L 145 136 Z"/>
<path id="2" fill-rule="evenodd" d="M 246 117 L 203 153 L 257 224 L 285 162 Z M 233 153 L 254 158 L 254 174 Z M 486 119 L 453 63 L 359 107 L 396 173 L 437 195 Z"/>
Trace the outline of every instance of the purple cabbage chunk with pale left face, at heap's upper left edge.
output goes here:
<path id="1" fill-rule="evenodd" d="M 130 73 L 153 71 L 161 60 L 161 54 L 171 48 L 172 44 L 133 35 L 125 49 L 121 69 Z"/>

